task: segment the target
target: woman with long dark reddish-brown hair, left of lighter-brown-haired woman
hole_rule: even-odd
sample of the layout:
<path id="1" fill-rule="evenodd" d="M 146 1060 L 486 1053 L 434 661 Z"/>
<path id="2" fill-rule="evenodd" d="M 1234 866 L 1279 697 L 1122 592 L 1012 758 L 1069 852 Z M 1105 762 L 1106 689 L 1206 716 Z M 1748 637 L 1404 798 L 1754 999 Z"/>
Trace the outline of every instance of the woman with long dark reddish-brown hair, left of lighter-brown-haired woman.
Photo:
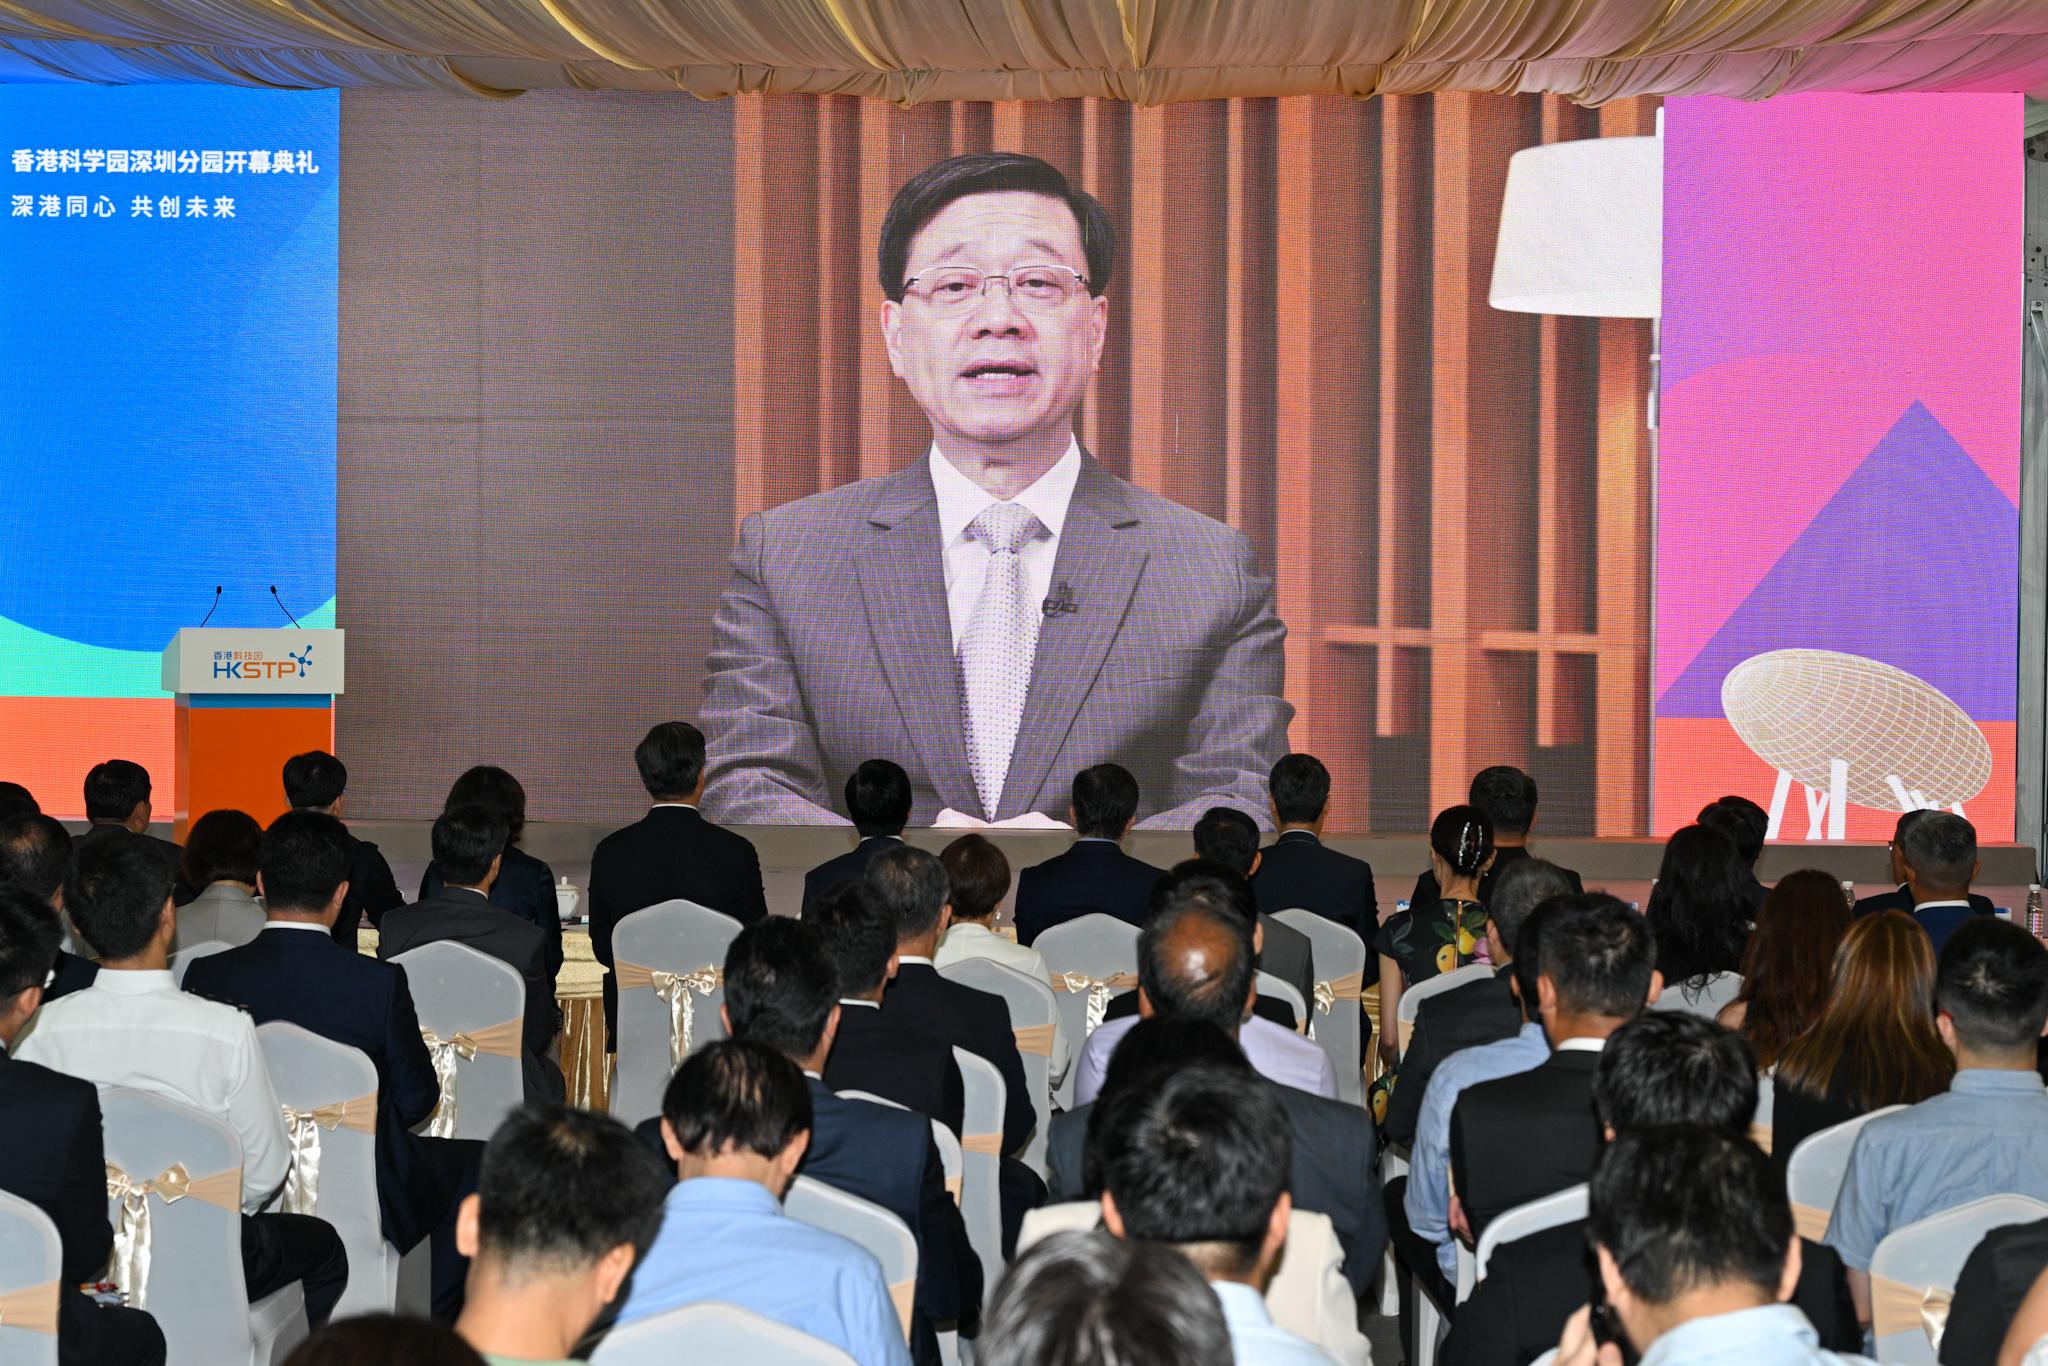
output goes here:
<path id="1" fill-rule="evenodd" d="M 1743 991 L 1720 1010 L 1720 1022 L 1749 1040 L 1759 1069 L 1776 1067 L 1786 1047 L 1821 1018 L 1849 920 L 1841 883 L 1819 868 L 1780 879 L 1763 897 L 1743 950 Z"/>

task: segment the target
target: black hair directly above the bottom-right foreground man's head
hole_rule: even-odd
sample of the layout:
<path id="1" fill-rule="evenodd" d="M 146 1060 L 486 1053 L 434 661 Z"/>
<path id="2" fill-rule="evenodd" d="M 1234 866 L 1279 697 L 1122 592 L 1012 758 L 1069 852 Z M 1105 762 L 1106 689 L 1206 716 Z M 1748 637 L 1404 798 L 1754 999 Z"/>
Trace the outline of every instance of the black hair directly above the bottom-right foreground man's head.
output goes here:
<path id="1" fill-rule="evenodd" d="M 1618 1135 L 1686 1124 L 1741 1139 L 1757 1112 L 1757 1055 L 1683 1010 L 1645 1010 L 1593 1069 L 1593 1112 Z"/>

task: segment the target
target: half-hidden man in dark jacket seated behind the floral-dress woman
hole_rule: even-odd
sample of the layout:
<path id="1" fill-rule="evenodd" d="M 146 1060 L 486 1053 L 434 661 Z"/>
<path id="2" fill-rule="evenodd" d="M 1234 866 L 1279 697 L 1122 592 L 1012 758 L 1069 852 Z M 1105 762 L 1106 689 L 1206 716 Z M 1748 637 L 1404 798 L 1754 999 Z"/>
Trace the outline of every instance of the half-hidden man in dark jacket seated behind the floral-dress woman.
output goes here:
<path id="1" fill-rule="evenodd" d="M 1495 879 L 1493 905 L 1487 907 L 1487 961 L 1493 965 L 1493 977 L 1438 991 L 1421 1001 L 1415 1012 L 1415 1032 L 1401 1055 L 1401 1079 L 1380 1118 L 1380 1137 L 1386 1143 L 1415 1143 L 1415 1122 L 1421 1118 L 1430 1077 L 1446 1057 L 1460 1049 L 1513 1038 L 1524 1022 L 1534 1024 L 1534 1008 L 1524 1016 L 1513 991 L 1516 946 L 1530 913 L 1550 897 L 1569 893 L 1571 877 L 1542 858 L 1518 858 Z M 1536 1036 L 1542 1038 L 1540 1026 Z"/>

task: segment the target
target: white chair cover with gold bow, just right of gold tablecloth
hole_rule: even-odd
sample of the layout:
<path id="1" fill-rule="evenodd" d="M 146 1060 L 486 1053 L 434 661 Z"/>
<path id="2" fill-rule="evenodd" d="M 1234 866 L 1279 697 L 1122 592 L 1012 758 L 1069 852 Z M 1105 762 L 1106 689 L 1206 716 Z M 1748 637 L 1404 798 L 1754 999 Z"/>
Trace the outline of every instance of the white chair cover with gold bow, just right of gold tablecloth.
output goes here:
<path id="1" fill-rule="evenodd" d="M 676 1063 L 698 1044 L 725 1038 L 725 950 L 739 922 L 694 901 L 659 901 L 612 930 L 618 979 L 618 1063 L 612 1114 L 625 1124 L 662 1112 Z M 651 985 L 637 985 L 651 975 Z"/>

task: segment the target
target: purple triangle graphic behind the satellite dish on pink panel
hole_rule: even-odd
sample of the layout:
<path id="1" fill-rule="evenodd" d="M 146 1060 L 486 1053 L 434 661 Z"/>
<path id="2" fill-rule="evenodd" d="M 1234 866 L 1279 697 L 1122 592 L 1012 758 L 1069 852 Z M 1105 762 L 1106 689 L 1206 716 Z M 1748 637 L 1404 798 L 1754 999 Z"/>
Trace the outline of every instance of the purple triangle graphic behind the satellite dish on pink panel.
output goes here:
<path id="1" fill-rule="evenodd" d="M 1839 649 L 1946 692 L 1976 721 L 2017 709 L 2019 514 L 1925 405 L 1872 446 L 1657 702 L 1720 717 L 1720 680 L 1767 649 Z"/>

